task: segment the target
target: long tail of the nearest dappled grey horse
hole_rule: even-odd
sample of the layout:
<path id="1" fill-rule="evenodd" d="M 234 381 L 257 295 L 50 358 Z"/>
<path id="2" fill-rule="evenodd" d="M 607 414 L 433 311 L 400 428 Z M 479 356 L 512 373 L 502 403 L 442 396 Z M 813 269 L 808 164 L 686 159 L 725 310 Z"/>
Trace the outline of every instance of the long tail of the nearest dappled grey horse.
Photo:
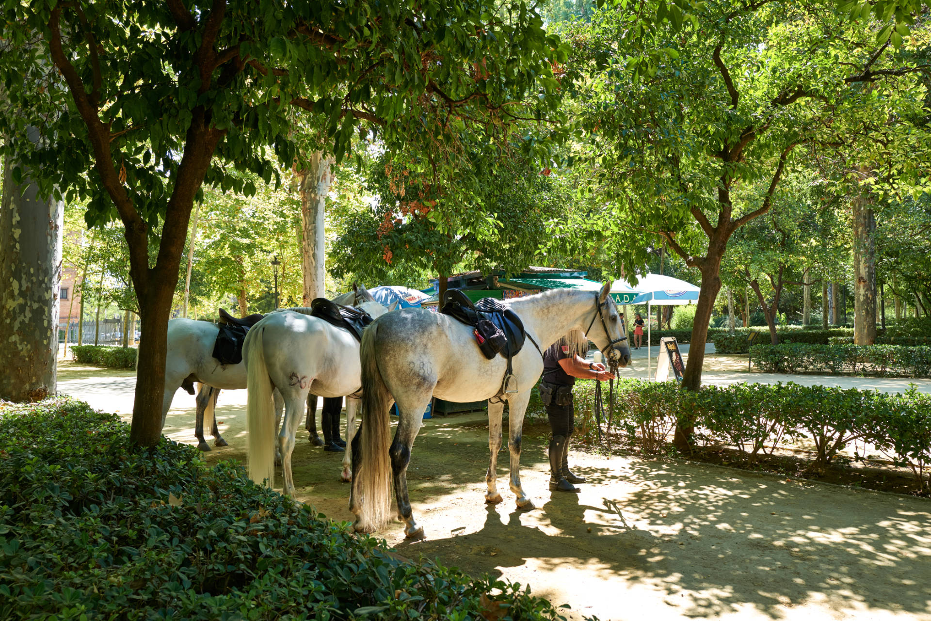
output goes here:
<path id="1" fill-rule="evenodd" d="M 353 447 L 356 452 L 353 462 L 358 464 L 353 478 L 358 493 L 355 499 L 358 507 L 356 530 L 364 533 L 382 529 L 388 522 L 391 508 L 391 460 L 388 456 L 391 393 L 378 369 L 375 352 L 377 330 L 376 323 L 362 331 L 359 349 L 362 362 L 362 428 L 359 442 Z"/>

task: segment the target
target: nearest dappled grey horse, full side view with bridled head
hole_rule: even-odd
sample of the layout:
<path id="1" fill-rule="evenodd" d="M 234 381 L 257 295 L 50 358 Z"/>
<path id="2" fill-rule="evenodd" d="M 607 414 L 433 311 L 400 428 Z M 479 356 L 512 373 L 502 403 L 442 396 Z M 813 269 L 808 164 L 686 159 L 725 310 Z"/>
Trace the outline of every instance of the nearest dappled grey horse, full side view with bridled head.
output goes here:
<path id="1" fill-rule="evenodd" d="M 582 331 L 613 366 L 623 367 L 630 361 L 630 348 L 617 307 L 608 298 L 610 290 L 610 283 L 599 293 L 551 290 L 514 300 L 510 307 L 523 321 L 528 337 L 543 351 L 570 331 Z M 406 308 L 376 319 L 362 335 L 361 359 L 362 421 L 352 443 L 354 477 L 349 500 L 358 532 L 371 533 L 385 526 L 393 477 L 404 533 L 412 539 L 423 538 L 424 529 L 414 521 L 408 499 L 407 467 L 413 440 L 423 424 L 422 412 L 434 396 L 448 401 L 489 399 L 492 459 L 485 477 L 485 500 L 489 503 L 501 502 L 496 467 L 502 399 L 507 400 L 510 488 L 520 509 L 533 508 L 520 486 L 520 433 L 531 390 L 543 371 L 543 357 L 530 338 L 512 358 L 516 393 L 503 392 L 506 359 L 485 358 L 472 328 L 421 308 Z M 399 416 L 389 449 L 388 410 L 392 402 L 397 402 Z"/>

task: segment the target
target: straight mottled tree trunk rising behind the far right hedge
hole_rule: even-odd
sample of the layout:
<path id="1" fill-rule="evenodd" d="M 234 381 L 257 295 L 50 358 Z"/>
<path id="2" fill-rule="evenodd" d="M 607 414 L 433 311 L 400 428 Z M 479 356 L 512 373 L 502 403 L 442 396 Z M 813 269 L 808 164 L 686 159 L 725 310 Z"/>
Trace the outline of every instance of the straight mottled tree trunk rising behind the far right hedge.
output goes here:
<path id="1" fill-rule="evenodd" d="M 868 174 L 859 167 L 861 175 Z M 869 189 L 851 201 L 854 222 L 854 344 L 876 342 L 876 245 Z M 846 310 L 846 309 L 844 309 Z"/>

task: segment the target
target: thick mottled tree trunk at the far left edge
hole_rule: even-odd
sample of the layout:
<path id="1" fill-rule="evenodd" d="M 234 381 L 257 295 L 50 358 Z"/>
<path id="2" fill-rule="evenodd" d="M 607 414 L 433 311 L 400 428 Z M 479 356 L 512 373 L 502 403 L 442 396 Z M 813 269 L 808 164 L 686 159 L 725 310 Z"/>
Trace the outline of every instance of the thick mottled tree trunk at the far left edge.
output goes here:
<path id="1" fill-rule="evenodd" d="M 58 380 L 64 211 L 38 196 L 28 171 L 13 181 L 9 155 L 0 192 L 0 398 L 34 401 L 55 394 Z"/>

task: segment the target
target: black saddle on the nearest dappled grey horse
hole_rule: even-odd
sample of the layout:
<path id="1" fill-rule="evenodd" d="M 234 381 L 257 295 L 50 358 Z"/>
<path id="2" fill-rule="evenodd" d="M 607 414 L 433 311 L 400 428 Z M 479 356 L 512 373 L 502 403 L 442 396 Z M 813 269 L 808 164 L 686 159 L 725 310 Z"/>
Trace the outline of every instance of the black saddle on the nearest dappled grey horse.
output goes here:
<path id="1" fill-rule="evenodd" d="M 485 358 L 492 359 L 501 354 L 507 359 L 507 371 L 502 384 L 502 392 L 516 393 L 517 385 L 511 385 L 513 372 L 511 358 L 518 355 L 528 338 L 523 322 L 510 306 L 495 298 L 483 298 L 477 304 L 458 289 L 446 290 L 443 295 L 443 307 L 439 311 L 444 315 L 471 326 L 475 329 L 476 342 Z M 533 342 L 533 338 L 531 338 Z M 539 351 L 540 346 L 536 345 Z M 543 356 L 543 353 L 540 353 Z"/>

